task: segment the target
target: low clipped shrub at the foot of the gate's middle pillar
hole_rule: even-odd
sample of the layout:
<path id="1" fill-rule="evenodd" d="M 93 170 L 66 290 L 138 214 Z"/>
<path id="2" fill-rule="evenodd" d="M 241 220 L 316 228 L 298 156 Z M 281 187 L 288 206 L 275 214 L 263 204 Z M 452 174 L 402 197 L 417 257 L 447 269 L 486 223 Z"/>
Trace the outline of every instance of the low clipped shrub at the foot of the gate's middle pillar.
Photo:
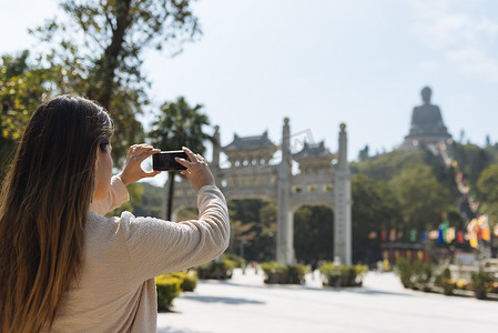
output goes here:
<path id="1" fill-rule="evenodd" d="M 261 269 L 265 273 L 264 282 L 267 284 L 304 284 L 304 276 L 308 271 L 304 265 L 284 265 L 274 261 L 262 263 Z"/>

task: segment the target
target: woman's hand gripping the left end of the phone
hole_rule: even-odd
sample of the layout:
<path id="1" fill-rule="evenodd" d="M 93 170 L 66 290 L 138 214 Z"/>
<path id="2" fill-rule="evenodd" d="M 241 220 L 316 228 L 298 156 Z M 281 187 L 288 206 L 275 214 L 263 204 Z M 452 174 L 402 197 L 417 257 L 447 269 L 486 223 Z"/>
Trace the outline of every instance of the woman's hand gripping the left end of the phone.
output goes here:
<path id="1" fill-rule="evenodd" d="M 121 181 L 128 185 L 141 180 L 142 178 L 150 178 L 161 173 L 161 171 L 145 172 L 141 167 L 143 160 L 150 155 L 159 153 L 160 151 L 161 150 L 154 149 L 152 145 L 148 144 L 133 144 L 130 147 L 123 171 L 119 174 Z"/>

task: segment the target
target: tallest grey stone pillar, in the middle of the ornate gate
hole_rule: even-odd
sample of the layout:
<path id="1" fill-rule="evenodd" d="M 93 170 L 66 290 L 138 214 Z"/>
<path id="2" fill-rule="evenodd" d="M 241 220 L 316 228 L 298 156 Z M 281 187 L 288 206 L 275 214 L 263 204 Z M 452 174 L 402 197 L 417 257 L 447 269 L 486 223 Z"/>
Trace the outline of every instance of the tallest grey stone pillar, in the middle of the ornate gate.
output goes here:
<path id="1" fill-rule="evenodd" d="M 288 118 L 284 119 L 282 133 L 282 162 L 277 171 L 277 231 L 276 261 L 282 264 L 294 263 L 294 228 L 291 210 L 291 130 Z"/>

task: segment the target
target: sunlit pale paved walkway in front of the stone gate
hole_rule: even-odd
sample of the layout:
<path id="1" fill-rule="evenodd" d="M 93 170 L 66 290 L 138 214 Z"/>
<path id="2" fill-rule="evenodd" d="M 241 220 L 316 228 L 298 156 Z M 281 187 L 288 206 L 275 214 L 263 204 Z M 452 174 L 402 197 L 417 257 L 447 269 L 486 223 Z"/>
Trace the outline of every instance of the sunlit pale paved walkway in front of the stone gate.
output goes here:
<path id="1" fill-rule="evenodd" d="M 498 332 L 498 302 L 405 290 L 393 273 L 368 273 L 364 287 L 265 285 L 235 271 L 225 282 L 200 281 L 194 293 L 160 313 L 159 333 Z"/>

